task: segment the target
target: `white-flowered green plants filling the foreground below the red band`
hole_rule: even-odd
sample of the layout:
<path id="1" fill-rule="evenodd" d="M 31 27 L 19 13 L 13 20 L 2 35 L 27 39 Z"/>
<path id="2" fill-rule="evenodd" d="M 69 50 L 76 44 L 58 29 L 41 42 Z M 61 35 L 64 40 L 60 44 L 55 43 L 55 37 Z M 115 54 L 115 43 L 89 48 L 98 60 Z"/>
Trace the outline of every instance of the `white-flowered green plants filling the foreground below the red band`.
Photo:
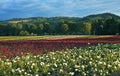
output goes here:
<path id="1" fill-rule="evenodd" d="M 120 44 L 0 58 L 0 76 L 108 76 L 120 70 Z"/>

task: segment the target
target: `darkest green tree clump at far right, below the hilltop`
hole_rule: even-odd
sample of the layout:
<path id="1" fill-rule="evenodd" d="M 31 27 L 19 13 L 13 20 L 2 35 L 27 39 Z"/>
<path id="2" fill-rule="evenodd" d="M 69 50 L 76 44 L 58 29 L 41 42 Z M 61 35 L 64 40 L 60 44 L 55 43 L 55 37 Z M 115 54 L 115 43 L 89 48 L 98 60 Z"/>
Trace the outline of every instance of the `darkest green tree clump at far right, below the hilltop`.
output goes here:
<path id="1" fill-rule="evenodd" d="M 96 35 L 116 35 L 120 34 L 120 25 L 115 18 L 108 18 L 106 20 L 96 20 L 92 24 L 92 34 Z"/>

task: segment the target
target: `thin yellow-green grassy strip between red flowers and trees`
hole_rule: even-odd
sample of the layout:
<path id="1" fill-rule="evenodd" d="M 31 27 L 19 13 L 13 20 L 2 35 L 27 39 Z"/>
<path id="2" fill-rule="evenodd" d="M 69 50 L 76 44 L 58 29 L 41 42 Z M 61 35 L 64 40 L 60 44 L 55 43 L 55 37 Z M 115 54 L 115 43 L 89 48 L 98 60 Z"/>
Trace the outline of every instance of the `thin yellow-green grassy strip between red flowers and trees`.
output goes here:
<path id="1" fill-rule="evenodd" d="M 66 39 L 66 38 L 101 38 L 110 36 L 94 36 L 94 35 L 44 35 L 44 36 L 0 36 L 0 41 L 6 40 L 40 40 L 40 39 Z"/>

